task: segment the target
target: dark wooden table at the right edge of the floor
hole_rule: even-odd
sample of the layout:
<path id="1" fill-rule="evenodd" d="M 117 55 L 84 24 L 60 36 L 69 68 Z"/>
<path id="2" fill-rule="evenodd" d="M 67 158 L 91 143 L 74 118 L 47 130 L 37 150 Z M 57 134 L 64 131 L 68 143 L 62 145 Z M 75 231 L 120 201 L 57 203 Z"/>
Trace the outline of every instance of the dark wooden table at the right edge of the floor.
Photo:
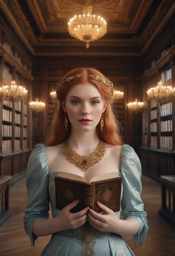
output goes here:
<path id="1" fill-rule="evenodd" d="M 175 175 L 160 176 L 162 183 L 162 209 L 159 215 L 175 227 Z"/>

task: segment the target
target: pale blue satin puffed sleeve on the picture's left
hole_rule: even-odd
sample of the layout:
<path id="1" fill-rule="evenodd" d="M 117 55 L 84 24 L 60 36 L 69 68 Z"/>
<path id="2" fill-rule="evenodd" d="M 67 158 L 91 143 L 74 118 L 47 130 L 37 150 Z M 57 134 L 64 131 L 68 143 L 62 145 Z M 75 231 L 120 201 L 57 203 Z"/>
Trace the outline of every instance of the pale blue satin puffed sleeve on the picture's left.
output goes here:
<path id="1" fill-rule="evenodd" d="M 49 218 L 48 166 L 45 146 L 37 144 L 32 150 L 27 164 L 26 184 L 28 192 L 27 209 L 24 216 L 24 228 L 35 247 L 38 236 L 32 233 L 32 227 L 39 218 Z"/>

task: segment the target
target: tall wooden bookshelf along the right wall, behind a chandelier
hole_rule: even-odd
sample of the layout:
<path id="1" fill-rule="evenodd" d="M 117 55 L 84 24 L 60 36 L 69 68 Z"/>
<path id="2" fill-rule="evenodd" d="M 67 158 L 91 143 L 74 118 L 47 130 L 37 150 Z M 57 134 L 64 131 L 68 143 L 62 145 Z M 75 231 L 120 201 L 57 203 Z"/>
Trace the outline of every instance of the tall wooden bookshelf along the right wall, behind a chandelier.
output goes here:
<path id="1" fill-rule="evenodd" d="M 162 80 L 167 86 L 175 87 L 175 59 L 163 62 L 159 69 L 150 69 L 144 76 L 144 93 L 155 86 L 155 81 Z M 157 65 L 157 63 L 155 63 Z M 154 67 L 153 67 L 154 68 Z M 147 141 L 141 146 L 142 170 L 148 176 L 160 182 L 161 175 L 175 175 L 175 96 L 167 98 L 165 102 L 147 100 L 147 111 L 143 117 L 143 137 Z"/>

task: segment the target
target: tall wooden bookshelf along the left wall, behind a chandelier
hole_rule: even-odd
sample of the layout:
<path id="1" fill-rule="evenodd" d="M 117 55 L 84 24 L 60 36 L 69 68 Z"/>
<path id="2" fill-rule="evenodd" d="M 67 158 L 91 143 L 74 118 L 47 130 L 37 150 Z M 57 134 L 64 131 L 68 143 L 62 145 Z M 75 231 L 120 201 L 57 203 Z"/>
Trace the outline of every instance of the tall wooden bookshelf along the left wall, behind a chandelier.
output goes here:
<path id="1" fill-rule="evenodd" d="M 2 20 L 0 20 L 0 23 Z M 2 25 L 2 24 L 1 24 Z M 0 99 L 0 176 L 11 177 L 10 185 L 24 175 L 31 153 L 31 113 L 28 103 L 31 100 L 31 59 L 11 30 L 3 24 L 3 37 L 0 34 L 0 87 L 10 85 L 15 80 L 28 92 L 27 99 L 13 101 Z"/>

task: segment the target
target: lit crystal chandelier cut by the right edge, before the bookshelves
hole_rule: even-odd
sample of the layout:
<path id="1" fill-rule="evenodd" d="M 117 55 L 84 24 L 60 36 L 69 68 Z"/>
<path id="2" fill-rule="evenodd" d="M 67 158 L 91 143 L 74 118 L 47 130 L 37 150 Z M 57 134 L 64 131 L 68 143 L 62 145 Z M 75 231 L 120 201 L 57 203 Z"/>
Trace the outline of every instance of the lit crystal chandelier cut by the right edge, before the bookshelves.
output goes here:
<path id="1" fill-rule="evenodd" d="M 175 94 L 175 88 L 172 86 L 164 86 L 162 81 L 157 83 L 156 87 L 148 89 L 148 99 L 158 101 L 159 103 L 166 103 L 171 100 L 171 97 Z"/>

